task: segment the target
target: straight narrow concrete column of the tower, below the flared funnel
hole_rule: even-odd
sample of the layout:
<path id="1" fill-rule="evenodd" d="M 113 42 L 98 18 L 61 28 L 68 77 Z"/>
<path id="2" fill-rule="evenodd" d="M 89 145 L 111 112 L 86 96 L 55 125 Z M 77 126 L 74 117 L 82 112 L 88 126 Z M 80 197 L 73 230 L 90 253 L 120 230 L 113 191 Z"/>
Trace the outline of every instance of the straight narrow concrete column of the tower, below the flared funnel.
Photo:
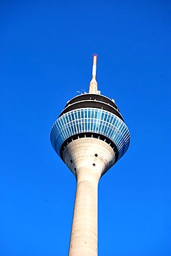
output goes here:
<path id="1" fill-rule="evenodd" d="M 69 256 L 97 256 L 97 194 L 100 175 L 93 167 L 77 170 Z"/>

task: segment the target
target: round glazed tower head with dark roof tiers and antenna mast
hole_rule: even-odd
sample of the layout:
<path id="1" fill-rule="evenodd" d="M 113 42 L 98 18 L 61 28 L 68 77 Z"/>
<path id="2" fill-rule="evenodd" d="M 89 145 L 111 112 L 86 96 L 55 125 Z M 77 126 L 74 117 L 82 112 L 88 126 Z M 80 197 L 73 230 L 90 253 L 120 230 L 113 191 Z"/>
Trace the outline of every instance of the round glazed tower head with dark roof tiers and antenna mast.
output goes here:
<path id="1" fill-rule="evenodd" d="M 96 66 L 89 93 L 77 95 L 68 101 L 50 132 L 52 147 L 62 159 L 63 151 L 70 142 L 87 137 L 108 143 L 114 150 L 115 163 L 130 145 L 130 132 L 119 108 L 114 100 L 97 91 Z"/>

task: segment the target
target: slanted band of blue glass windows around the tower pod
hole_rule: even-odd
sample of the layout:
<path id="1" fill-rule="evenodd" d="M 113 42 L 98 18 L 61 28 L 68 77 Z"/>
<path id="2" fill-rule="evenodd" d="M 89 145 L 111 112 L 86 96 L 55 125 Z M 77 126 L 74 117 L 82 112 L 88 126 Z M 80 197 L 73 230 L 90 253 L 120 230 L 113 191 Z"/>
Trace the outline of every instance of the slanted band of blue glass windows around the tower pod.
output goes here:
<path id="1" fill-rule="evenodd" d="M 82 132 L 97 132 L 110 138 L 119 150 L 119 158 L 128 149 L 130 134 L 123 121 L 102 109 L 83 108 L 63 114 L 54 123 L 50 137 L 55 151 L 60 154 L 63 142 Z"/>

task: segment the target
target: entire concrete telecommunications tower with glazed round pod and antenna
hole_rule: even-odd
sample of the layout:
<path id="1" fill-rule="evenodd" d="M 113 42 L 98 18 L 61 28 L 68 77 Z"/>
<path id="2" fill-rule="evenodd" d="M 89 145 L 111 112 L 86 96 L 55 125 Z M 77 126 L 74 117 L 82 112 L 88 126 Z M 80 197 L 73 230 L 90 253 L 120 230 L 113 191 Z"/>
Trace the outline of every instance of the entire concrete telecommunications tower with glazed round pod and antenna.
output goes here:
<path id="1" fill-rule="evenodd" d="M 52 126 L 54 151 L 77 179 L 69 256 L 97 256 L 98 183 L 125 154 L 130 133 L 114 100 L 101 95 L 93 55 L 88 93 L 67 102 Z"/>

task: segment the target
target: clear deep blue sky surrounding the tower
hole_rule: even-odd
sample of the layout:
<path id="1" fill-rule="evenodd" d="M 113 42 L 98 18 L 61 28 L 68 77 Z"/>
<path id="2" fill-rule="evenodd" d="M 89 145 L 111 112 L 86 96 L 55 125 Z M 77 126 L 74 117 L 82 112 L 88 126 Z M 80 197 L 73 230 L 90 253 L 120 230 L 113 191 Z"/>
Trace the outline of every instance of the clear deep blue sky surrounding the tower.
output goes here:
<path id="1" fill-rule="evenodd" d="M 130 129 L 99 183 L 99 256 L 170 256 L 171 3 L 0 2 L 0 255 L 68 254 L 76 181 L 50 145 L 66 102 L 97 81 Z"/>

